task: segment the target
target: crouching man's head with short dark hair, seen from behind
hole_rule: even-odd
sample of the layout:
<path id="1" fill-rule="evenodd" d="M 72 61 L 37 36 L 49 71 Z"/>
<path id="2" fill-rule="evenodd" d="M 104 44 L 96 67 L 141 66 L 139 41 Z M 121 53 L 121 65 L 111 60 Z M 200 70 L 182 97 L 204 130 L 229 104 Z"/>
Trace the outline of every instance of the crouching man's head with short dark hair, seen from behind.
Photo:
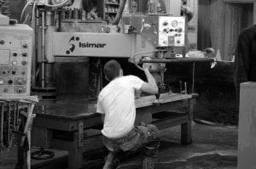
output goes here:
<path id="1" fill-rule="evenodd" d="M 115 77 L 119 76 L 121 66 L 119 63 L 112 59 L 109 60 L 103 67 L 104 75 L 108 78 L 108 81 L 112 81 Z"/>

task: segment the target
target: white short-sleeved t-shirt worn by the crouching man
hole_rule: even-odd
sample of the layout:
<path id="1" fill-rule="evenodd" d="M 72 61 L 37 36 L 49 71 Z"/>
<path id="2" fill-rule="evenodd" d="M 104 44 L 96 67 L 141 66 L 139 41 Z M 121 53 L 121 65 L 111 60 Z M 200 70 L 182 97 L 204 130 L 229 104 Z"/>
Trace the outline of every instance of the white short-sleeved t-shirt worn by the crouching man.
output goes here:
<path id="1" fill-rule="evenodd" d="M 105 114 L 102 134 L 107 138 L 120 138 L 134 127 L 136 107 L 135 90 L 143 80 L 137 76 L 121 76 L 109 82 L 98 96 L 96 112 Z"/>

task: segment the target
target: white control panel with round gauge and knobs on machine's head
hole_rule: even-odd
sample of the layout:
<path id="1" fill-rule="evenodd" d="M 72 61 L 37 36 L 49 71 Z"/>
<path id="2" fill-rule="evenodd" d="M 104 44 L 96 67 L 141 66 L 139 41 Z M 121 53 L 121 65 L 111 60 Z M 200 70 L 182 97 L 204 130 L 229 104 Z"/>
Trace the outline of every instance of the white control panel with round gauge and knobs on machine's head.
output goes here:
<path id="1" fill-rule="evenodd" d="M 185 28 L 184 17 L 160 16 L 159 47 L 184 47 Z"/>

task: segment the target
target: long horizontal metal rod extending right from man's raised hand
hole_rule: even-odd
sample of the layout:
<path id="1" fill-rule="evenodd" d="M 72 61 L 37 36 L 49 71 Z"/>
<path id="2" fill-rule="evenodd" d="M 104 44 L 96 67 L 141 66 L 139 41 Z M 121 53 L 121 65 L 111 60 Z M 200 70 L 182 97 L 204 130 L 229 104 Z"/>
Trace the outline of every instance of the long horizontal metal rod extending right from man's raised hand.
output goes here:
<path id="1" fill-rule="evenodd" d="M 182 62 L 213 62 L 213 58 L 183 58 L 183 59 L 141 59 L 142 63 L 182 63 Z"/>

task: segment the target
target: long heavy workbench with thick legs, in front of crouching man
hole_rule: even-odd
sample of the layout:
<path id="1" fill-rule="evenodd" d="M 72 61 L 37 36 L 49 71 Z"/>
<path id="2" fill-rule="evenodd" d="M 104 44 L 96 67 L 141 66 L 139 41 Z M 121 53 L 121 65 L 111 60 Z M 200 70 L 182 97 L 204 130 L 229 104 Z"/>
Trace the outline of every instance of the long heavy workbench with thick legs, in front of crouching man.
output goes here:
<path id="1" fill-rule="evenodd" d="M 142 121 L 153 123 L 159 129 L 181 125 L 181 143 L 189 144 L 192 141 L 191 119 L 196 96 L 197 94 L 162 93 L 159 100 L 154 95 L 140 97 L 136 99 L 136 124 Z M 179 113 L 173 113 L 175 110 L 179 110 Z M 102 118 L 96 113 L 96 102 L 79 99 L 72 103 L 64 101 L 38 105 L 35 113 L 37 118 L 33 122 L 32 133 L 35 136 L 32 136 L 32 144 L 38 145 L 44 139 L 44 146 L 67 150 L 69 169 L 82 166 L 83 152 L 87 149 L 102 146 L 101 134 L 91 137 L 86 132 L 97 129 L 100 133 L 102 129 Z"/>

